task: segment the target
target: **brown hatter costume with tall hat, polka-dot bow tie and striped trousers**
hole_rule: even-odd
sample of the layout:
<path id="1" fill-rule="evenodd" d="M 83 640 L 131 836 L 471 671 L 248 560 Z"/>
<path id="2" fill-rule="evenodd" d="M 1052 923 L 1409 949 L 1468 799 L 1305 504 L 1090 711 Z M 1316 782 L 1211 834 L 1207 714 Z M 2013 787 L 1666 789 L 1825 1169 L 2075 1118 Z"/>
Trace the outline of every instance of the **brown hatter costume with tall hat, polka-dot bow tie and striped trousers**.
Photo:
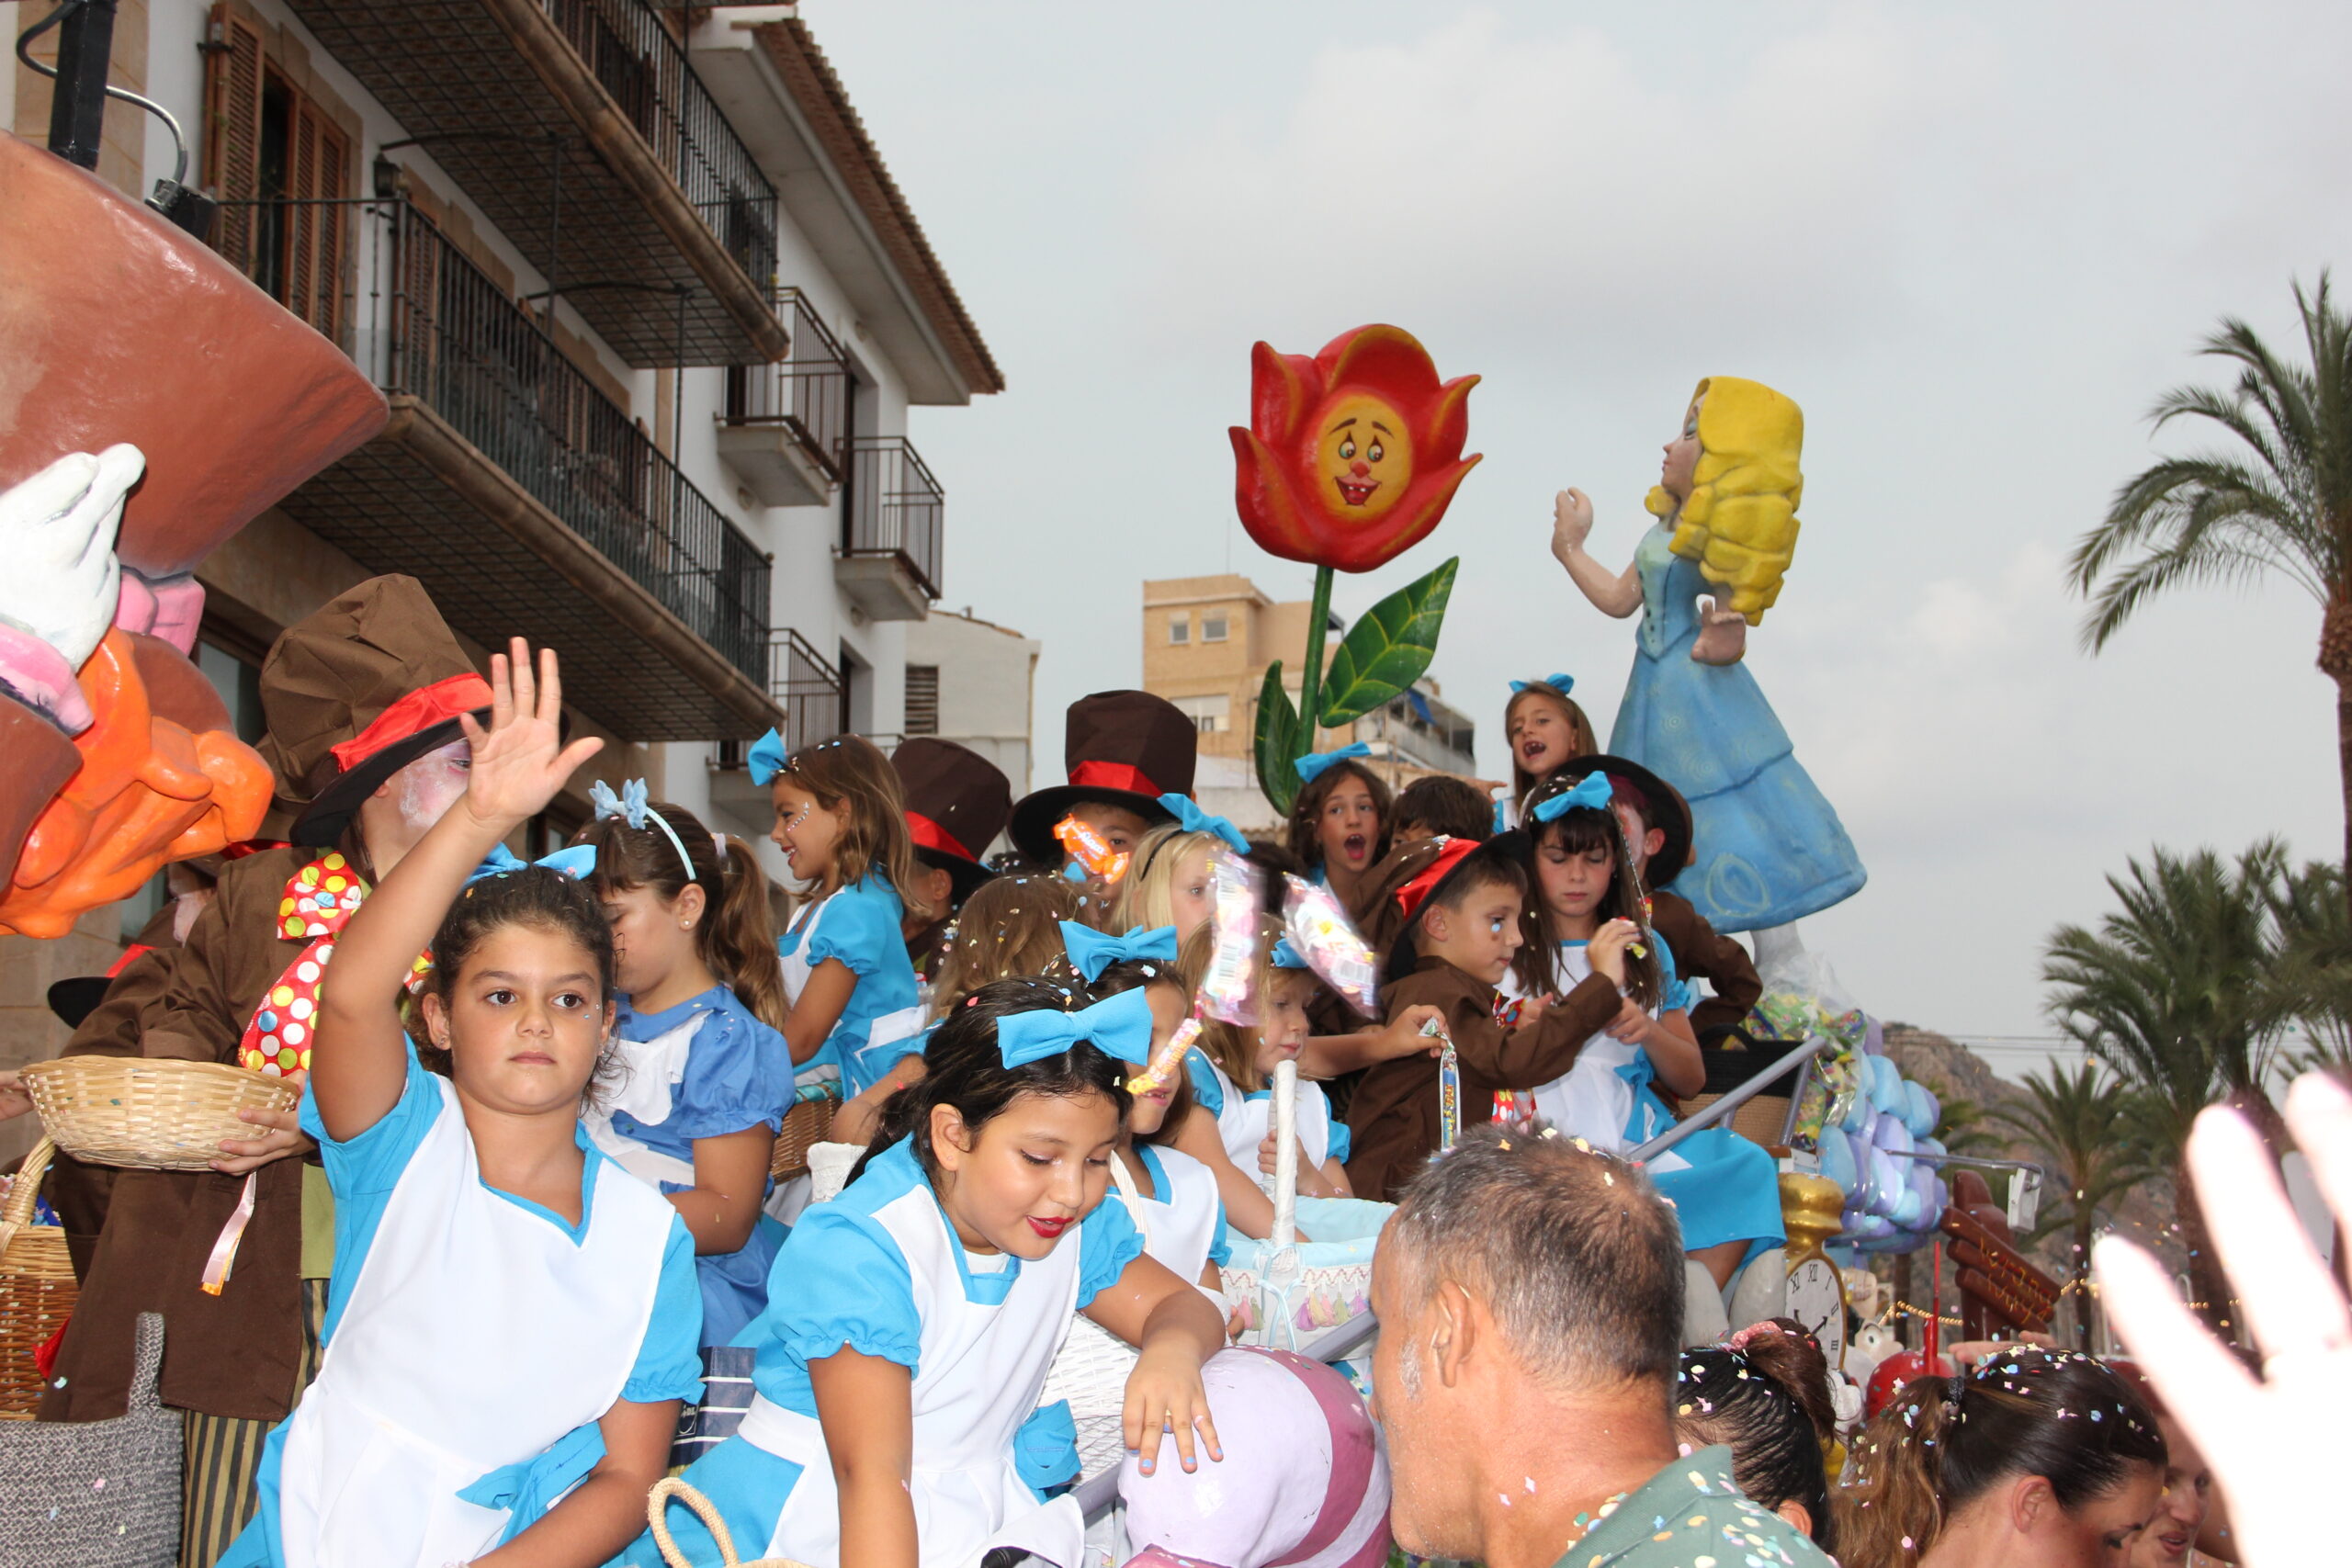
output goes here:
<path id="1" fill-rule="evenodd" d="M 318 945 L 365 896 L 374 867 L 353 816 L 376 785 L 456 741 L 456 715 L 487 710 L 489 684 L 416 578 L 379 576 L 278 637 L 261 665 L 261 705 L 270 722 L 261 752 L 280 790 L 308 802 L 296 844 L 221 870 L 162 987 L 139 1006 L 141 1056 L 280 1072 L 306 1060 L 266 1001 L 306 957 L 320 957 Z M 120 1018 L 106 1025 L 113 1013 L 92 1013 L 66 1051 L 118 1051 L 125 1032 Z M 233 1269 L 219 1295 L 202 1286 L 245 1187 L 242 1175 L 209 1171 L 115 1178 L 40 1406 L 42 1420 L 120 1415 L 136 1316 L 162 1312 L 162 1401 L 193 1418 L 183 1563 L 209 1563 L 242 1526 L 261 1436 L 292 1408 L 318 1356 L 303 1281 L 325 1274 L 315 1258 L 332 1246 L 332 1199 L 315 1164 L 273 1159 L 252 1173 L 254 1208 Z"/>

